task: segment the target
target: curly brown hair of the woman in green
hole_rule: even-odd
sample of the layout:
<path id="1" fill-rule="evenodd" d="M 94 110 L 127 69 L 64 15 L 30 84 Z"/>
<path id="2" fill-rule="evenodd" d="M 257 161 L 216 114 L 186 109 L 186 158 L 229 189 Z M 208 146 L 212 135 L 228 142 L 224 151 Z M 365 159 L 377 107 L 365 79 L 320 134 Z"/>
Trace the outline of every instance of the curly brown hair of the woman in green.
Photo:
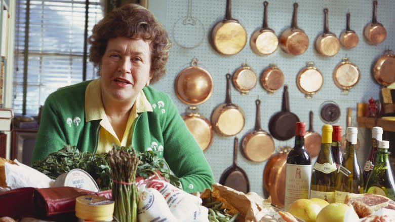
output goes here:
<path id="1" fill-rule="evenodd" d="M 126 4 L 106 14 L 92 29 L 89 60 L 99 67 L 108 40 L 119 36 L 132 39 L 142 38 L 150 42 L 151 73 L 150 83 L 155 83 L 166 73 L 166 63 L 171 47 L 169 36 L 163 25 L 146 8 L 137 4 Z"/>

